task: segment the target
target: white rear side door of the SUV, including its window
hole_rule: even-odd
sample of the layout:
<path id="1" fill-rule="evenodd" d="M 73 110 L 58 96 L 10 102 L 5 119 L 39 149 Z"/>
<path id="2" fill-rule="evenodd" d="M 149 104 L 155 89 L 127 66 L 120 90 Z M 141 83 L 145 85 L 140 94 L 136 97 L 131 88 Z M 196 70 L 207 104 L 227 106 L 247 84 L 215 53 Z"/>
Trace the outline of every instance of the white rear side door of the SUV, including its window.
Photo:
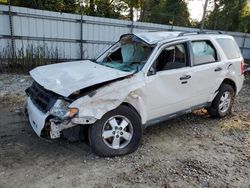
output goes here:
<path id="1" fill-rule="evenodd" d="M 192 54 L 192 106 L 210 102 L 226 74 L 225 63 L 210 40 L 190 42 Z"/>

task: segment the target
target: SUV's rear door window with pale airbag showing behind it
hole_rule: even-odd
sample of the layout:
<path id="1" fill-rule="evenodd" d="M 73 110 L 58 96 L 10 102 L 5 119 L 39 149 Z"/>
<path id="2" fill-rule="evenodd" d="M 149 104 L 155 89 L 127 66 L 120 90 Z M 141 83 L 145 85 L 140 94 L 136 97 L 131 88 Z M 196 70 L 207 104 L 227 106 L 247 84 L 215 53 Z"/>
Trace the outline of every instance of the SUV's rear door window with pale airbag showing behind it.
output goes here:
<path id="1" fill-rule="evenodd" d="M 193 41 L 194 65 L 202 65 L 217 61 L 217 53 L 210 41 Z"/>

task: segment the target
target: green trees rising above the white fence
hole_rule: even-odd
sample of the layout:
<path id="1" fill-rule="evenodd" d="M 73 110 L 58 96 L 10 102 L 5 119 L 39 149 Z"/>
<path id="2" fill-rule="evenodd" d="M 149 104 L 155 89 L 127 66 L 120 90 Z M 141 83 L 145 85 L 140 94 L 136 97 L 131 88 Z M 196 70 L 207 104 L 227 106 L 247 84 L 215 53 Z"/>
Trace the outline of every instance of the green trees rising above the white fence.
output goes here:
<path id="1" fill-rule="evenodd" d="M 6 2 L 7 0 L 0 0 Z M 142 22 L 199 27 L 190 20 L 187 0 L 11 0 L 11 4 L 36 9 Z M 249 0 L 210 0 L 214 9 L 208 12 L 205 29 L 250 32 Z M 139 14 L 135 16 L 135 10 Z"/>

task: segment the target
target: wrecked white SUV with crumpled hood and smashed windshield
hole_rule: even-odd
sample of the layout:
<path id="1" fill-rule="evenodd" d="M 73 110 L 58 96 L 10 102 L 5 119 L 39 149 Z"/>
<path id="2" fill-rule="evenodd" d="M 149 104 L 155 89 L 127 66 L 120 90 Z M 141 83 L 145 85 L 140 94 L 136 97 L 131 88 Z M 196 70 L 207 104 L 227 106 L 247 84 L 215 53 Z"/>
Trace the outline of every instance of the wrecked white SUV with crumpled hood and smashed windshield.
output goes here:
<path id="1" fill-rule="evenodd" d="M 88 130 L 100 156 L 135 151 L 143 129 L 195 109 L 230 113 L 243 58 L 223 34 L 125 34 L 95 61 L 41 66 L 30 74 L 26 114 L 36 134 L 76 140 Z"/>

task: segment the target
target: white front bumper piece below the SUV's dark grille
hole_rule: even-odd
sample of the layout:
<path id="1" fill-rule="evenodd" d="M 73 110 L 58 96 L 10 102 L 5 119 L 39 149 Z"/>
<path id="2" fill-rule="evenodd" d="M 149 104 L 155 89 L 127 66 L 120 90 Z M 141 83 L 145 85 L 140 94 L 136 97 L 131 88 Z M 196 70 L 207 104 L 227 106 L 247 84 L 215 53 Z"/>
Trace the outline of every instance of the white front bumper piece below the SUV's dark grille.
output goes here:
<path id="1" fill-rule="evenodd" d="M 42 129 L 45 126 L 45 122 L 49 114 L 44 114 L 32 103 L 30 97 L 27 99 L 26 112 L 31 127 L 35 133 L 40 137 Z"/>

